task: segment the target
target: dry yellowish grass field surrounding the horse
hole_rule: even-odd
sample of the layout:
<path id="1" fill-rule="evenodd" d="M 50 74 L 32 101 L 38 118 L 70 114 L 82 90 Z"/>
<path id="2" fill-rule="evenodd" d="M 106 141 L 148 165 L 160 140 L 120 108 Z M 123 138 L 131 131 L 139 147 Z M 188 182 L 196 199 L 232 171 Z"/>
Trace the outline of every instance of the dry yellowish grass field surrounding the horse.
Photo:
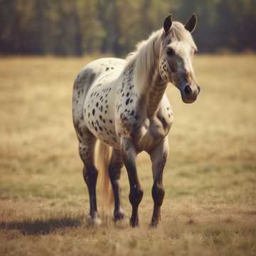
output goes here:
<path id="1" fill-rule="evenodd" d="M 138 157 L 140 228 L 87 225 L 71 117 L 89 58 L 0 58 L 0 255 L 256 255 L 256 56 L 196 56 L 202 92 L 174 110 L 159 228 L 149 157 Z M 127 215 L 129 186 L 122 170 Z"/>

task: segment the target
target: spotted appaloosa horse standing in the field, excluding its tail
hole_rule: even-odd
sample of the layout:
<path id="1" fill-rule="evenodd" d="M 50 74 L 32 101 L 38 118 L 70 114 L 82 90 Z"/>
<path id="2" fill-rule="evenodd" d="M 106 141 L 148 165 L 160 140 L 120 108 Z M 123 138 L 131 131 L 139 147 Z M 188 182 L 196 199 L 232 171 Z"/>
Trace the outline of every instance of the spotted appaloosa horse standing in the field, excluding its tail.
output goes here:
<path id="1" fill-rule="evenodd" d="M 138 207 L 143 191 L 137 175 L 136 158 L 146 151 L 152 163 L 154 210 L 151 226 L 160 219 L 164 199 L 163 170 L 169 152 L 167 134 L 173 113 L 164 94 L 168 82 L 181 91 L 183 102 L 196 100 L 200 87 L 193 71 L 196 44 L 191 33 L 196 15 L 185 26 L 164 20 L 164 28 L 138 44 L 127 60 L 101 58 L 83 68 L 73 90 L 73 122 L 79 141 L 83 176 L 90 196 L 92 223 L 101 222 L 97 212 L 95 142 L 100 157 L 112 150 L 106 168 L 114 193 L 114 220 L 124 218 L 119 199 L 119 177 L 123 164 L 129 177 L 130 224 L 139 225 Z M 99 152 L 96 152 L 96 154 Z"/>

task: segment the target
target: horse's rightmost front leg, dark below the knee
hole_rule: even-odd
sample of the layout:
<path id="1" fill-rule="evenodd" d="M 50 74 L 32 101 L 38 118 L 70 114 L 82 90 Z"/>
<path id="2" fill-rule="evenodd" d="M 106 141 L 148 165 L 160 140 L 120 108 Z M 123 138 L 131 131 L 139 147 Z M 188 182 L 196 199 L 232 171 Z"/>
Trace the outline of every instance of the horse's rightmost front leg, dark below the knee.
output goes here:
<path id="1" fill-rule="evenodd" d="M 152 162 L 152 171 L 154 184 L 152 187 L 152 197 L 154 200 L 154 210 L 151 219 L 151 227 L 156 227 L 161 218 L 161 205 L 164 201 L 164 185 L 163 171 L 166 164 L 166 159 L 169 154 L 168 138 L 158 144 L 151 152 L 150 158 Z"/>

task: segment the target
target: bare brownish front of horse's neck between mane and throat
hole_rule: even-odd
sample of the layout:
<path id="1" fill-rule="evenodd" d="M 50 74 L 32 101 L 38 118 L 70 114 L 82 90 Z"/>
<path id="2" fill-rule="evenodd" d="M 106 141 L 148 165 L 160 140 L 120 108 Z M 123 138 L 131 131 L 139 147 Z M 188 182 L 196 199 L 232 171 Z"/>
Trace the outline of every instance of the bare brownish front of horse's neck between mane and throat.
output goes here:
<path id="1" fill-rule="evenodd" d="M 159 105 L 162 97 L 164 96 L 164 92 L 166 90 L 167 82 L 162 80 L 161 75 L 159 73 L 158 63 L 156 67 L 154 67 L 154 75 L 152 77 L 151 83 L 147 90 L 147 114 L 149 117 L 152 117 L 156 110 L 159 109 Z"/>

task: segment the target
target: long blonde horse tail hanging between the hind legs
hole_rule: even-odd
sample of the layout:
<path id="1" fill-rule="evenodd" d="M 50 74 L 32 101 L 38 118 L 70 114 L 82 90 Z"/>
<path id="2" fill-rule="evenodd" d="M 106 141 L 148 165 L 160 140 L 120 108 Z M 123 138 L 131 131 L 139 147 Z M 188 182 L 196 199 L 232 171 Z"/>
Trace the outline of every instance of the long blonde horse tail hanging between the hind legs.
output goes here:
<path id="1" fill-rule="evenodd" d="M 110 184 L 108 166 L 110 164 L 112 148 L 98 141 L 95 150 L 95 165 L 99 171 L 100 179 L 100 196 L 102 215 L 109 213 L 110 206 L 113 203 L 113 191 Z"/>

